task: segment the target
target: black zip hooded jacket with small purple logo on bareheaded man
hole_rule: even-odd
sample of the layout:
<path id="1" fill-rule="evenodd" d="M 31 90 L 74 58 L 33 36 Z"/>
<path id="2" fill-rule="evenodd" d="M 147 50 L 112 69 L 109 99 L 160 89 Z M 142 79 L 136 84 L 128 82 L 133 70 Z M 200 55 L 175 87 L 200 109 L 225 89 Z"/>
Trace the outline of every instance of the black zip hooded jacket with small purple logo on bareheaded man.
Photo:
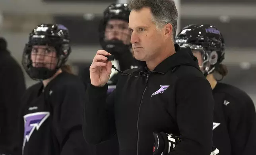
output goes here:
<path id="1" fill-rule="evenodd" d="M 127 70 L 139 77 L 123 74 L 108 98 L 106 85 L 88 85 L 83 123 L 87 142 L 98 144 L 117 133 L 120 155 L 149 155 L 153 132 L 163 131 L 182 135 L 170 155 L 211 153 L 211 87 L 190 48 L 175 49 L 151 72 L 145 63 Z"/>

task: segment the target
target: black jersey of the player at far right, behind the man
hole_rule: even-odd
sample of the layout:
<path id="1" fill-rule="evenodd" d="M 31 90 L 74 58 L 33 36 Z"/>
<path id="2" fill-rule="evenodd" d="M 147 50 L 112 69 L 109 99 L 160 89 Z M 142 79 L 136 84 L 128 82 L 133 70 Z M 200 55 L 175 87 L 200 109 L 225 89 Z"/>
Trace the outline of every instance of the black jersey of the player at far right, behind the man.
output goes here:
<path id="1" fill-rule="evenodd" d="M 217 83 L 213 97 L 213 144 L 219 149 L 219 155 L 254 155 L 256 113 L 251 98 L 224 83 Z"/>

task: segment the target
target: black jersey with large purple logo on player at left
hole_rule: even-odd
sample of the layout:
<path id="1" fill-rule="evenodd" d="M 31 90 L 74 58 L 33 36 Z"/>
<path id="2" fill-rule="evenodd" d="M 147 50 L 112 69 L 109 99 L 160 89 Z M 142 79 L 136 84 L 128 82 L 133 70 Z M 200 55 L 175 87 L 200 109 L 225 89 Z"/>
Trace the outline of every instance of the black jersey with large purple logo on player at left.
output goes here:
<path id="1" fill-rule="evenodd" d="M 82 119 L 82 81 L 62 72 L 43 90 L 30 87 L 24 97 L 23 155 L 86 155 Z"/>

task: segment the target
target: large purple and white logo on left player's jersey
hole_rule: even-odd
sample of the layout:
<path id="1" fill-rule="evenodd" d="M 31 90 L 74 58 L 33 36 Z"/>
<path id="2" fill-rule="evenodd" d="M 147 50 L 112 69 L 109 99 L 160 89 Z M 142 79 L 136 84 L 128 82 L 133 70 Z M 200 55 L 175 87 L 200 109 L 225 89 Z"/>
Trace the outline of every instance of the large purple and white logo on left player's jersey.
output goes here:
<path id="1" fill-rule="evenodd" d="M 24 139 L 23 139 L 23 148 L 25 143 L 29 141 L 29 138 L 33 134 L 34 130 L 41 127 L 44 121 L 50 116 L 50 112 L 36 112 L 29 113 L 24 115 Z M 22 151 L 23 152 L 23 151 Z"/>

